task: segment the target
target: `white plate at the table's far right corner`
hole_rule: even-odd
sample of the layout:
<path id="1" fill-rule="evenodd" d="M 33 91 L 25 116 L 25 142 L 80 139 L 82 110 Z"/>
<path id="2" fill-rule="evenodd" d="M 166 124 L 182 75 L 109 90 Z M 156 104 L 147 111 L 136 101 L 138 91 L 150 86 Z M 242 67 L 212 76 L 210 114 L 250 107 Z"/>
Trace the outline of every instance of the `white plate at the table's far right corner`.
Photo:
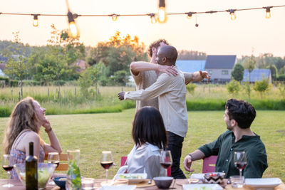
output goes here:
<path id="1" fill-rule="evenodd" d="M 279 178 L 247 178 L 244 183 L 253 187 L 274 188 L 282 183 Z"/>

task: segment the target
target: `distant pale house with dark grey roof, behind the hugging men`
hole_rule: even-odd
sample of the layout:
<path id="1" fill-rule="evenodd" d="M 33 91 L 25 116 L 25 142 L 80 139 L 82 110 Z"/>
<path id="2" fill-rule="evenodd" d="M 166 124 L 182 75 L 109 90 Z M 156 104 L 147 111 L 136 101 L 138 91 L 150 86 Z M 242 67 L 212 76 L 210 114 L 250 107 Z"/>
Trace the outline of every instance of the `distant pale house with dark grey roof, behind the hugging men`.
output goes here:
<path id="1" fill-rule="evenodd" d="M 211 75 L 213 83 L 226 83 L 231 80 L 231 73 L 237 56 L 207 56 L 206 70 Z"/>

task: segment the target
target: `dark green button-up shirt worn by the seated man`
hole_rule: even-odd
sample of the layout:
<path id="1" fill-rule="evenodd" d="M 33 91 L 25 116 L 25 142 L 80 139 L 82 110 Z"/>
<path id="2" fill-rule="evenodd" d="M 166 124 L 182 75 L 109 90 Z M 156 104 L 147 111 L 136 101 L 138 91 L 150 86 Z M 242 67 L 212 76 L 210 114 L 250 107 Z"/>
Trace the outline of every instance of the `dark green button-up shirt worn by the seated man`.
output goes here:
<path id="1" fill-rule="evenodd" d="M 216 171 L 226 173 L 226 178 L 239 175 L 239 169 L 234 167 L 234 152 L 244 151 L 247 155 L 247 167 L 242 172 L 245 178 L 261 178 L 268 167 L 267 155 L 260 137 L 242 136 L 238 142 L 234 142 L 232 131 L 226 131 L 209 144 L 199 147 L 206 157 L 217 155 Z"/>

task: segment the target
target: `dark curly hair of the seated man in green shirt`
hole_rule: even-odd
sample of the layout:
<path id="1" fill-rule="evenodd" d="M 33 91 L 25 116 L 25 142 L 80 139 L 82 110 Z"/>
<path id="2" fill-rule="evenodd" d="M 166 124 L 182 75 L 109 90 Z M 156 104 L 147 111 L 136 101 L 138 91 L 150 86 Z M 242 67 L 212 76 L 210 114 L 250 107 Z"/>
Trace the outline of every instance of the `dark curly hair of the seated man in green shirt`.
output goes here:
<path id="1" fill-rule="evenodd" d="M 229 99 L 225 108 L 228 110 L 229 120 L 236 120 L 242 129 L 249 128 L 257 115 L 254 107 L 244 100 Z"/>

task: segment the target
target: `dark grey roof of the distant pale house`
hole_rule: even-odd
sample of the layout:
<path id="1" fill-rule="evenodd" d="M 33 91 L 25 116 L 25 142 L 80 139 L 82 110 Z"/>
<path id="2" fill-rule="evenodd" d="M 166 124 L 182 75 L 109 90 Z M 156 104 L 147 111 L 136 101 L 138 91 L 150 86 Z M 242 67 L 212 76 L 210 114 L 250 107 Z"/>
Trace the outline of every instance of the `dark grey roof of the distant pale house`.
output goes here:
<path id="1" fill-rule="evenodd" d="M 207 56 L 205 68 L 234 68 L 237 56 Z"/>

